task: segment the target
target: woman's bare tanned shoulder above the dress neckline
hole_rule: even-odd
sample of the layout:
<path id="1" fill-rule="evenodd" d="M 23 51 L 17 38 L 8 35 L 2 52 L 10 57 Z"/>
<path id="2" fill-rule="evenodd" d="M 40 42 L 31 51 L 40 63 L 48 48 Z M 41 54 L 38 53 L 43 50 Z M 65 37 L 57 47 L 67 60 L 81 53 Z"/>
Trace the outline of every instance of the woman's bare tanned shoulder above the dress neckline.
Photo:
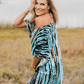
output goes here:
<path id="1" fill-rule="evenodd" d="M 39 16 L 35 19 L 36 28 L 46 26 L 52 22 L 50 14 Z"/>

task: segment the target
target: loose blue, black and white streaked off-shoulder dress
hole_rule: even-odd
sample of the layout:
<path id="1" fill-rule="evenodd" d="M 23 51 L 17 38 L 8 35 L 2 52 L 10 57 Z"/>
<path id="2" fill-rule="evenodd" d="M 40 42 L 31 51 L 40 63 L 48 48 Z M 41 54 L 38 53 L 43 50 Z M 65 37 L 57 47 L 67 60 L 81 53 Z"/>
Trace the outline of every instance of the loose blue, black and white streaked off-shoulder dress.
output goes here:
<path id="1" fill-rule="evenodd" d="M 63 63 L 54 21 L 38 29 L 34 26 L 33 30 L 31 24 L 24 21 L 31 39 L 33 58 L 41 58 L 28 84 L 62 84 Z"/>

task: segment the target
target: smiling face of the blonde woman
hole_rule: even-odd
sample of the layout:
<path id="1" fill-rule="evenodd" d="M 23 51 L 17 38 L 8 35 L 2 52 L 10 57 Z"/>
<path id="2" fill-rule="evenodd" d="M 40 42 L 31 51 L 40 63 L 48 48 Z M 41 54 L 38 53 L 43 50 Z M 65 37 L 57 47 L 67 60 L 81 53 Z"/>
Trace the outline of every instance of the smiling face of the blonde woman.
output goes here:
<path id="1" fill-rule="evenodd" d="M 36 0 L 35 2 L 35 13 L 37 16 L 48 13 L 50 7 L 47 4 L 47 0 Z"/>

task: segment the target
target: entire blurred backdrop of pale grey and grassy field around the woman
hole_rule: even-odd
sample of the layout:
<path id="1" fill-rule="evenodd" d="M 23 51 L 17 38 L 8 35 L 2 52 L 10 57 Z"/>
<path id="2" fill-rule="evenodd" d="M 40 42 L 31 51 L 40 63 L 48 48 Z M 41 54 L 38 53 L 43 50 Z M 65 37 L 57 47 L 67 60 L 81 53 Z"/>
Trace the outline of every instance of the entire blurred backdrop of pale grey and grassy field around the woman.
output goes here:
<path id="1" fill-rule="evenodd" d="M 54 0 L 63 61 L 63 84 L 84 84 L 84 0 Z M 34 73 L 27 28 L 12 22 L 30 0 L 0 0 L 0 84 L 26 84 Z M 25 19 L 30 18 L 28 14 Z"/>

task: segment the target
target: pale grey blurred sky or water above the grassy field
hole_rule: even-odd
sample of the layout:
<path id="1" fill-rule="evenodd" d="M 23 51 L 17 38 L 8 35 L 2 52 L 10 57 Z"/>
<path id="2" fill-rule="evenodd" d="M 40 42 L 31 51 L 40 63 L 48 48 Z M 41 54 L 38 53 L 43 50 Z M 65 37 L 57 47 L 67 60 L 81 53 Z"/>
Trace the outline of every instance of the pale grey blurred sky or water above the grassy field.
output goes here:
<path id="1" fill-rule="evenodd" d="M 84 0 L 54 0 L 59 15 L 57 27 L 84 27 Z M 30 0 L 1 0 L 0 22 L 13 22 L 30 5 Z M 30 15 L 27 16 L 29 18 Z"/>

